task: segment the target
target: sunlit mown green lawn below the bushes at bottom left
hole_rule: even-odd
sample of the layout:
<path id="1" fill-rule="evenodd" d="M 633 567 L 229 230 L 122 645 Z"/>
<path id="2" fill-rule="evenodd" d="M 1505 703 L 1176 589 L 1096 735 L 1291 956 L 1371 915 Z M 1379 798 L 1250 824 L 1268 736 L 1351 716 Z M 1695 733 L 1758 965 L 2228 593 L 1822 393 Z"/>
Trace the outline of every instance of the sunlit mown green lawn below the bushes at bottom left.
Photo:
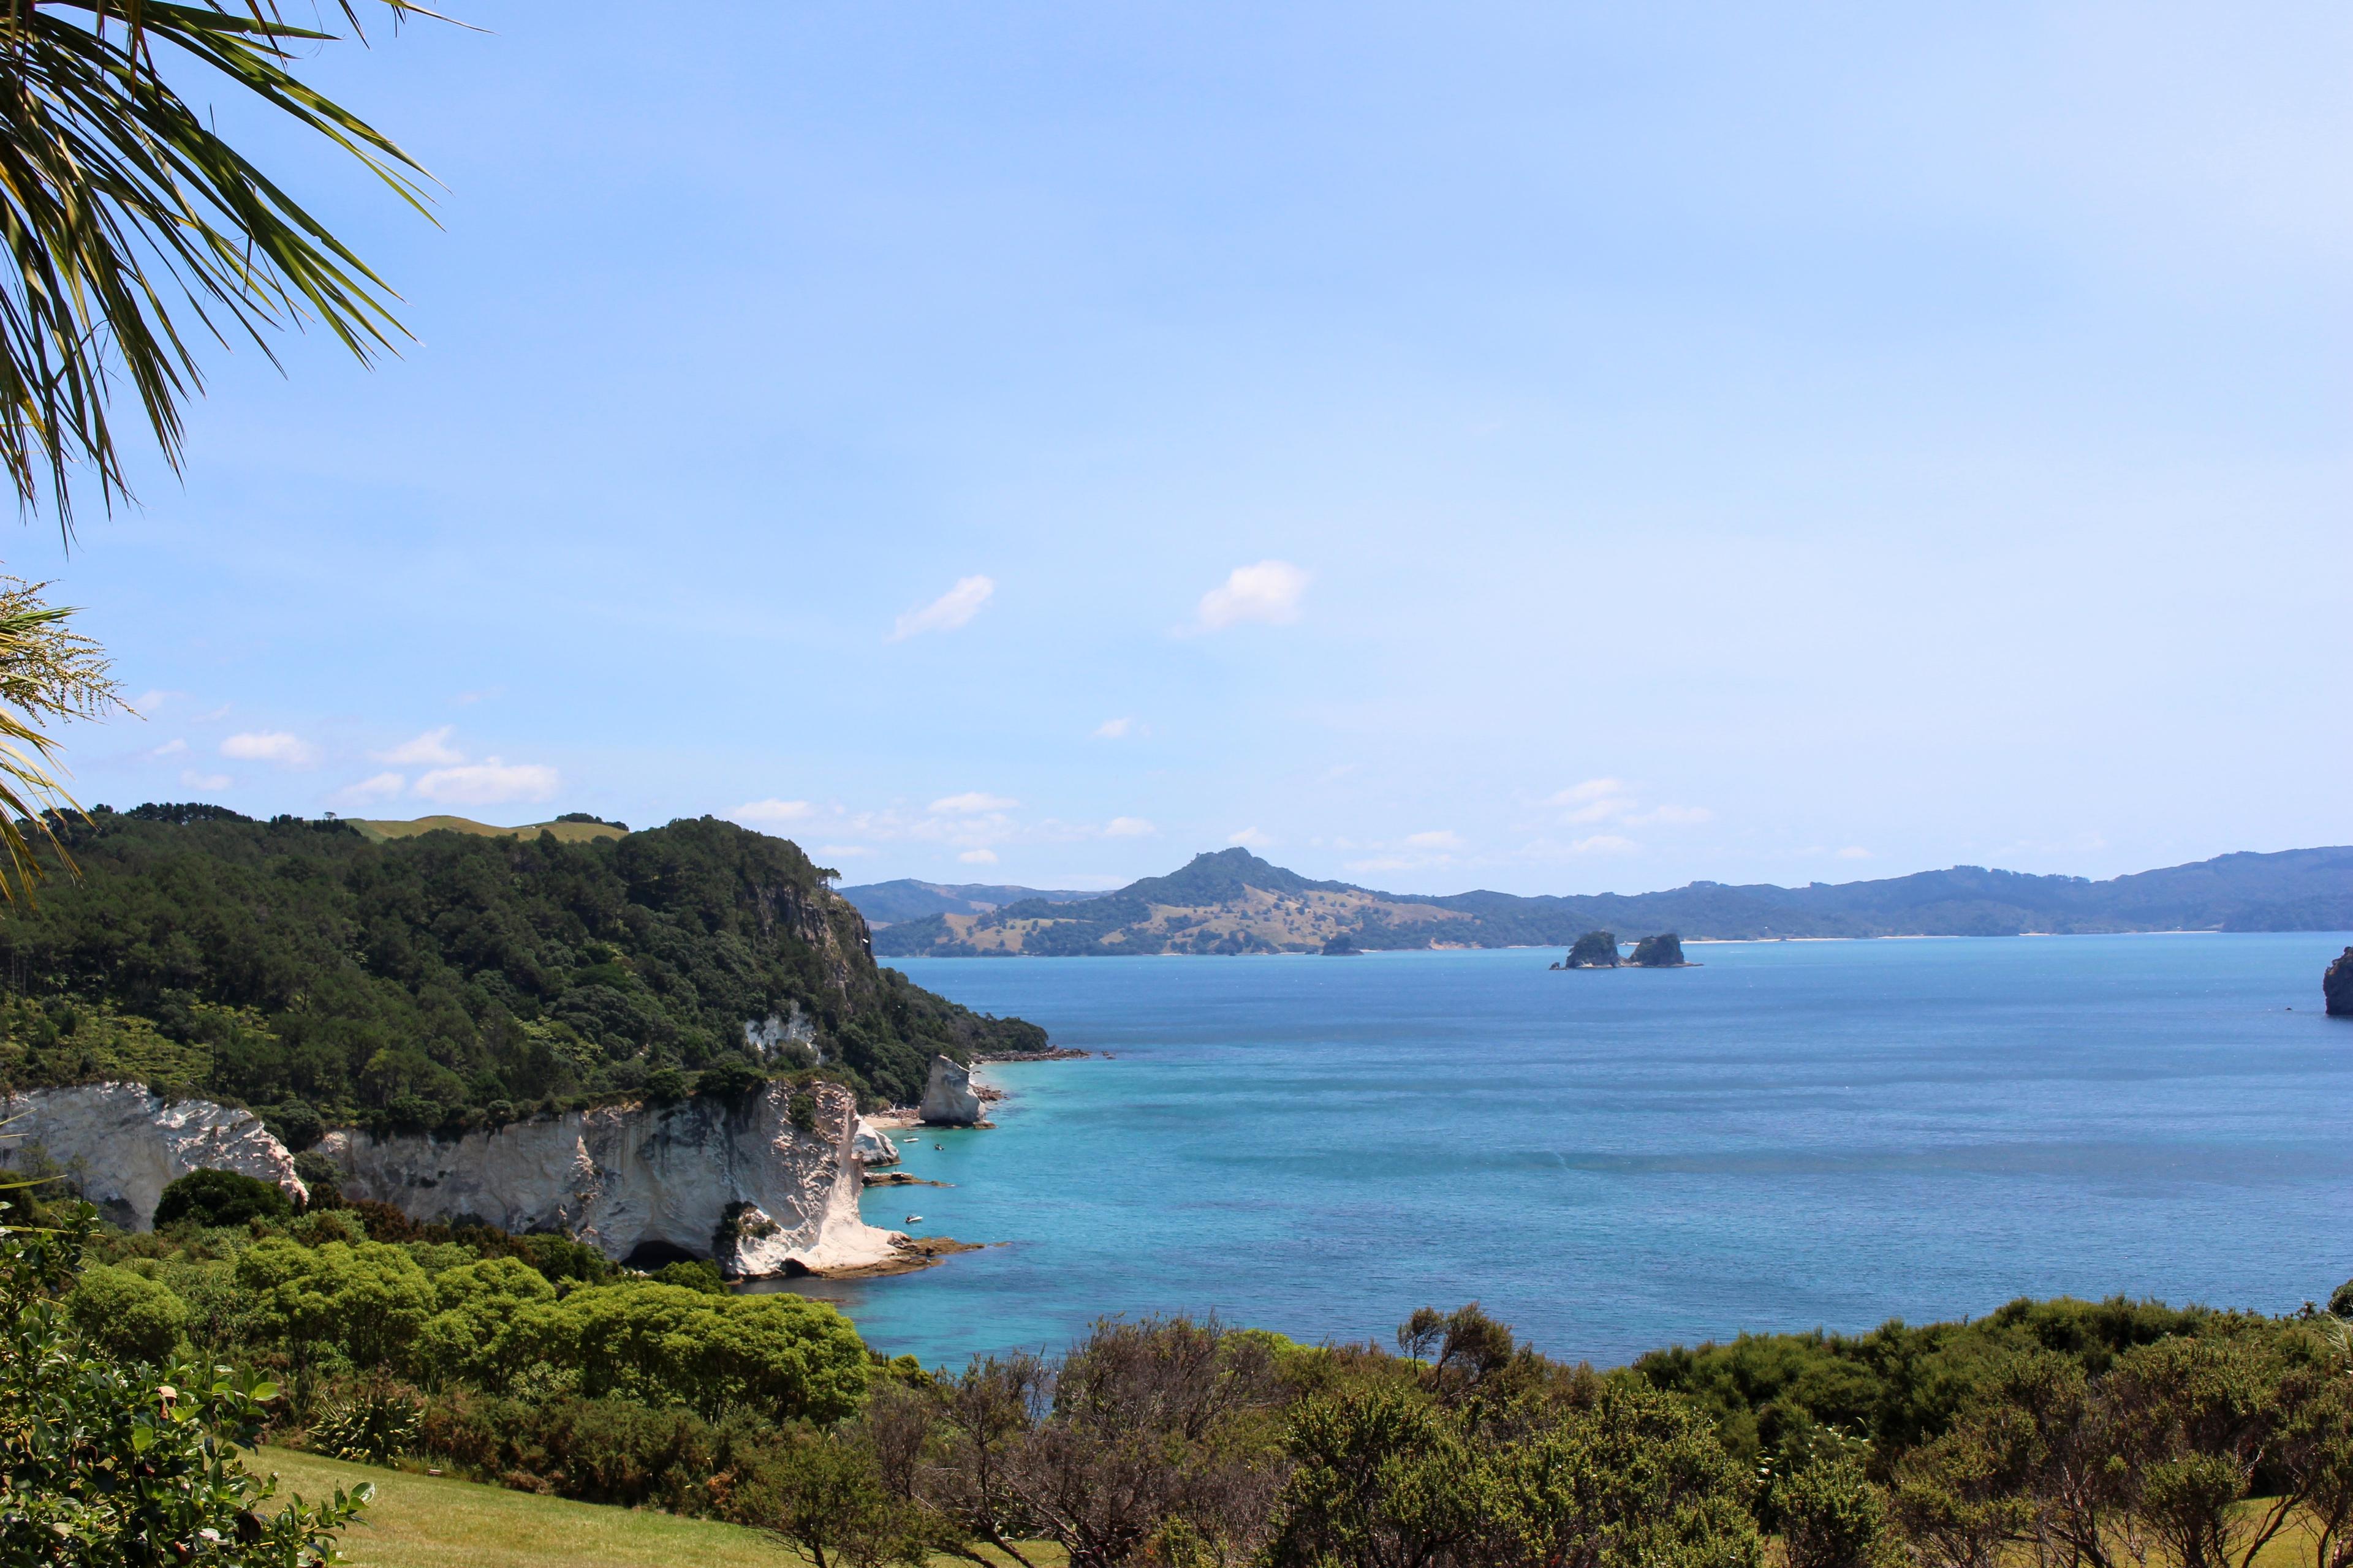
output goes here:
<path id="1" fill-rule="evenodd" d="M 264 1448 L 259 1474 L 278 1472 L 285 1490 L 334 1495 L 336 1486 L 374 1481 L 367 1523 L 344 1533 L 353 1568 L 802 1568 L 805 1559 L 732 1523 L 678 1519 L 511 1493 L 499 1486 L 416 1476 L 374 1465 L 322 1460 L 292 1448 Z"/>

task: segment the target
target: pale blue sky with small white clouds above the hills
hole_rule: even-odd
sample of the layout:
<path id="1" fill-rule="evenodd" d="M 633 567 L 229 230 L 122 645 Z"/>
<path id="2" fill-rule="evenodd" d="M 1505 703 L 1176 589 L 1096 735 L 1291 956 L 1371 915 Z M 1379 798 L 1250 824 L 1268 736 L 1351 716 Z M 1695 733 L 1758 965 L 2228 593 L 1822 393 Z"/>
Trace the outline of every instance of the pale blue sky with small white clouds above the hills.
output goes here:
<path id="1" fill-rule="evenodd" d="M 2341 7 L 518 5 L 374 371 L 28 524 L 82 799 L 1409 891 L 2353 842 Z M 228 108 L 231 125 L 240 110 Z"/>

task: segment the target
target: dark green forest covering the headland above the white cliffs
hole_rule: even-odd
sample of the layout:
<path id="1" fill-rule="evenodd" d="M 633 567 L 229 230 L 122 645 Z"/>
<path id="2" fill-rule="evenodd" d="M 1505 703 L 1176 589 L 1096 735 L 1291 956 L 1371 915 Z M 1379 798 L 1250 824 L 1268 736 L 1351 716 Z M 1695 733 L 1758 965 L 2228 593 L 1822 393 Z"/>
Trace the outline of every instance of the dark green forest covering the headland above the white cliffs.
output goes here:
<path id="1" fill-rule="evenodd" d="M 0 919 L 0 1081 L 127 1077 L 318 1126 L 471 1126 L 798 1070 L 913 1100 L 946 1051 L 1028 1051 L 875 969 L 786 839 L 715 818 L 560 844 L 221 806 L 92 811 L 80 879 Z M 779 1020 L 767 1046 L 746 1025 Z M 793 1023 L 800 1027 L 793 1030 Z"/>

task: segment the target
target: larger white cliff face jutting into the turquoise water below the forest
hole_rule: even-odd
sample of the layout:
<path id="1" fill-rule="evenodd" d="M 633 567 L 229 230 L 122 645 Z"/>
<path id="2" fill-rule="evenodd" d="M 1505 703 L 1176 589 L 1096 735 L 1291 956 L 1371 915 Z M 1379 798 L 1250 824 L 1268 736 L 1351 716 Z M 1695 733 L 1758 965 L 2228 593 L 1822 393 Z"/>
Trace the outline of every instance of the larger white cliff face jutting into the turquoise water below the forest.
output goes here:
<path id="1" fill-rule="evenodd" d="M 751 1279 L 873 1267 L 896 1232 L 859 1218 L 856 1103 L 819 1084 L 809 1131 L 793 1088 L 678 1105 L 605 1105 L 499 1131 L 433 1138 L 329 1133 L 344 1197 L 414 1220 L 480 1218 L 560 1229 L 607 1258 L 711 1258 Z"/>

